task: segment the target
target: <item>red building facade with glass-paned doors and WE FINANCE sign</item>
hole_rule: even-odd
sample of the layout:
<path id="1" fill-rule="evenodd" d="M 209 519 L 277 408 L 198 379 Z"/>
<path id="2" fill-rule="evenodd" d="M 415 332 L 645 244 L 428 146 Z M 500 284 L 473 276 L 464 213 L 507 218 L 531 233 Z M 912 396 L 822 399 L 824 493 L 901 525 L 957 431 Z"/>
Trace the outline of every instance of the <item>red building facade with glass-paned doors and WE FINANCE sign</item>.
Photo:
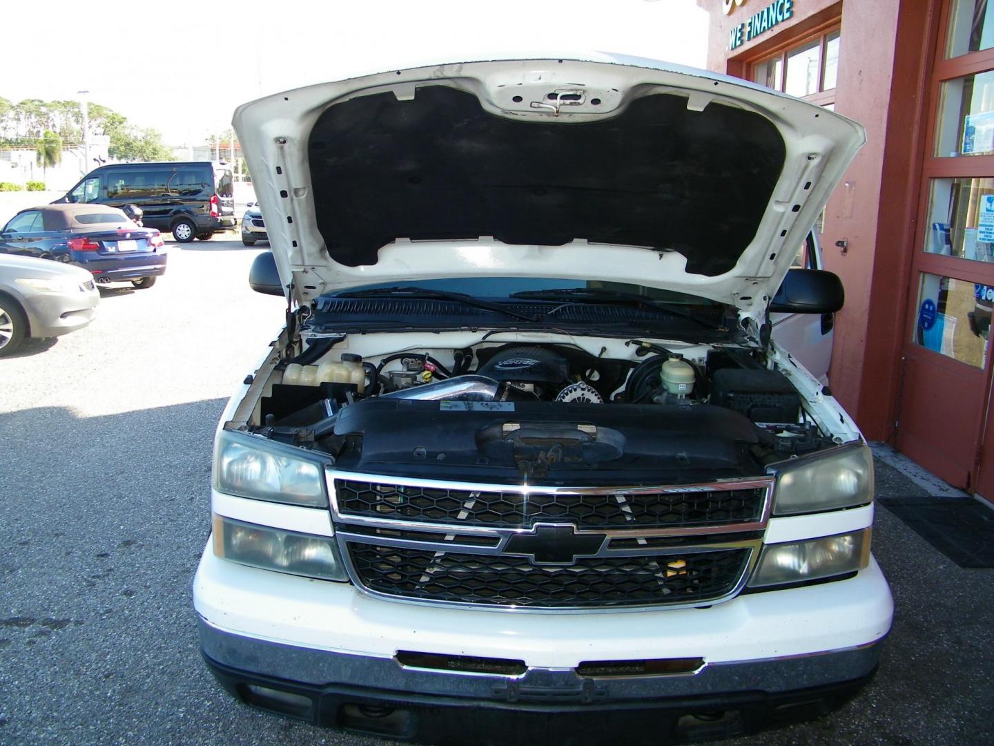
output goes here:
<path id="1" fill-rule="evenodd" d="M 833 393 L 871 440 L 994 499 L 994 8 L 698 0 L 708 67 L 860 121 L 817 229 L 846 287 Z"/>

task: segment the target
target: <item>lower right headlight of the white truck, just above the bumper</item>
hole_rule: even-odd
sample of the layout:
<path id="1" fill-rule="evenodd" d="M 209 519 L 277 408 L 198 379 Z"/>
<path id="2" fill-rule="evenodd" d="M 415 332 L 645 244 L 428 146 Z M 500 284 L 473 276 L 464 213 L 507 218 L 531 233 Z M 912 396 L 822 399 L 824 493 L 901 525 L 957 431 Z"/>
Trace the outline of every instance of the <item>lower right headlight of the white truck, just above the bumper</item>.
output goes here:
<path id="1" fill-rule="evenodd" d="M 862 570 L 870 562 L 870 529 L 807 541 L 766 544 L 749 588 L 821 580 Z"/>

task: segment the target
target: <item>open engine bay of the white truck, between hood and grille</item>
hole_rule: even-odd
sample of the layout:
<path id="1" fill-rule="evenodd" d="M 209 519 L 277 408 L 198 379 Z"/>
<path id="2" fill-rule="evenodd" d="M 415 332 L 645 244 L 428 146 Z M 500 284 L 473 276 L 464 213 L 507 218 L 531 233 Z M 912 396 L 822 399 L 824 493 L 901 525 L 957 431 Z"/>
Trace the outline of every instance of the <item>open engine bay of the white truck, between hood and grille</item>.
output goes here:
<path id="1" fill-rule="evenodd" d="M 345 340 L 273 365 L 245 429 L 348 471 L 588 484 L 760 475 L 842 440 L 745 346 L 566 337 L 363 356 Z"/>

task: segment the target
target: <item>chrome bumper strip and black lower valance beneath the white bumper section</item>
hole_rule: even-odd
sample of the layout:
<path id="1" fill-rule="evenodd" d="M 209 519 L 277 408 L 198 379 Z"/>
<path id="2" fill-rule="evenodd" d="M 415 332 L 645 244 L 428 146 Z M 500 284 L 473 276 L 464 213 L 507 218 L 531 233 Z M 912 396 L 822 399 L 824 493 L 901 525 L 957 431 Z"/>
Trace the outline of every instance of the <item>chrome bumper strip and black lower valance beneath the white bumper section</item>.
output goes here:
<path id="1" fill-rule="evenodd" d="M 247 704 L 315 725 L 432 743 L 543 736 L 628 743 L 648 733 L 669 742 L 751 733 L 840 706 L 873 677 L 881 648 L 724 663 L 694 674 L 593 677 L 536 667 L 508 676 L 295 648 L 203 619 L 199 627 L 208 667 Z"/>

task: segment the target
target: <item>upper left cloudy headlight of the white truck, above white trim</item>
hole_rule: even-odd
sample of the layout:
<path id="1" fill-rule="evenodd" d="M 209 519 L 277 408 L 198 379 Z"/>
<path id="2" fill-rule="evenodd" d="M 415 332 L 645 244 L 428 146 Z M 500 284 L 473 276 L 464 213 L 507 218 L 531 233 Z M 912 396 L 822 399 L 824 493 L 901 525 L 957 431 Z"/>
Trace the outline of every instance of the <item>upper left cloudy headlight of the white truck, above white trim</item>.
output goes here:
<path id="1" fill-rule="evenodd" d="M 323 464 L 263 438 L 222 430 L 214 443 L 214 488 L 291 505 L 325 507 Z"/>

